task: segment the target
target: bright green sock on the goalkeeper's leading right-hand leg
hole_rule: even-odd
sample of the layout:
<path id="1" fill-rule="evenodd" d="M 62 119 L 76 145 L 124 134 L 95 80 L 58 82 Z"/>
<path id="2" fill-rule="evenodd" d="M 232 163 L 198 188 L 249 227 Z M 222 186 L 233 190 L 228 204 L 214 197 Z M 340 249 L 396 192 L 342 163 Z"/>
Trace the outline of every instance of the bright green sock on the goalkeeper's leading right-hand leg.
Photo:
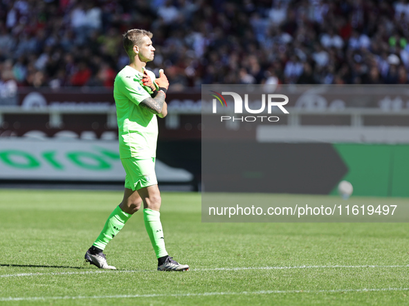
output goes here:
<path id="1" fill-rule="evenodd" d="M 156 258 L 167 256 L 161 213 L 159 211 L 152 211 L 152 209 L 143 209 L 143 220 L 145 220 L 146 231 L 152 242 L 152 247 L 154 247 Z"/>

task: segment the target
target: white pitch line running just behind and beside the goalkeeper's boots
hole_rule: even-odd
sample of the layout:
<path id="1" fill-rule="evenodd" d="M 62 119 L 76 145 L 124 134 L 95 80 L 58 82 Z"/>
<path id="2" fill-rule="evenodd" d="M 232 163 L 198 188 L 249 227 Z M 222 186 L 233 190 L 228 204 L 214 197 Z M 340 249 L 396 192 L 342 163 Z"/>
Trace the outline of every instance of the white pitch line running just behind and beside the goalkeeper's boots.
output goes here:
<path id="1" fill-rule="evenodd" d="M 210 268 L 210 269 L 190 269 L 189 271 L 242 271 L 242 270 L 284 270 L 284 269 L 360 269 L 360 268 L 407 268 L 409 265 L 333 265 L 333 266 L 294 266 L 294 267 L 235 267 L 235 268 Z M 49 273 L 21 273 L 3 274 L 0 278 L 21 277 L 21 276 L 44 276 L 44 275 L 73 275 L 73 274 L 102 274 L 102 273 L 138 273 L 156 272 L 156 270 L 96 270 L 81 272 L 49 272 Z"/>

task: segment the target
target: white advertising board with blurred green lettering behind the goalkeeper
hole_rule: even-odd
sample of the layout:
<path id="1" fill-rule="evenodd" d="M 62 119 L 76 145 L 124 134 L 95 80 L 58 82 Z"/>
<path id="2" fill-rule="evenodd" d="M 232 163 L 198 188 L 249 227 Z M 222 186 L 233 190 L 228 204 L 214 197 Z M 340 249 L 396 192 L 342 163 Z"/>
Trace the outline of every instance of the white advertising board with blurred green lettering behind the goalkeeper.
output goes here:
<path id="1" fill-rule="evenodd" d="M 158 182 L 189 182 L 193 175 L 156 160 Z M 0 180 L 125 180 L 117 141 L 0 139 Z"/>

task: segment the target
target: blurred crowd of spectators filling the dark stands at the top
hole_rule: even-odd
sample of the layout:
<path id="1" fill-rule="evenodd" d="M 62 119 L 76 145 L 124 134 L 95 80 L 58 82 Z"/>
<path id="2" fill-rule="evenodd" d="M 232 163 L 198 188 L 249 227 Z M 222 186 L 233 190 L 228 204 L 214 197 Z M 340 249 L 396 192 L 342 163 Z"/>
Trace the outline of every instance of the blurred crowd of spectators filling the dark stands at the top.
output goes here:
<path id="1" fill-rule="evenodd" d="M 113 86 L 130 28 L 173 90 L 408 84 L 407 0 L 0 0 L 0 84 Z"/>

